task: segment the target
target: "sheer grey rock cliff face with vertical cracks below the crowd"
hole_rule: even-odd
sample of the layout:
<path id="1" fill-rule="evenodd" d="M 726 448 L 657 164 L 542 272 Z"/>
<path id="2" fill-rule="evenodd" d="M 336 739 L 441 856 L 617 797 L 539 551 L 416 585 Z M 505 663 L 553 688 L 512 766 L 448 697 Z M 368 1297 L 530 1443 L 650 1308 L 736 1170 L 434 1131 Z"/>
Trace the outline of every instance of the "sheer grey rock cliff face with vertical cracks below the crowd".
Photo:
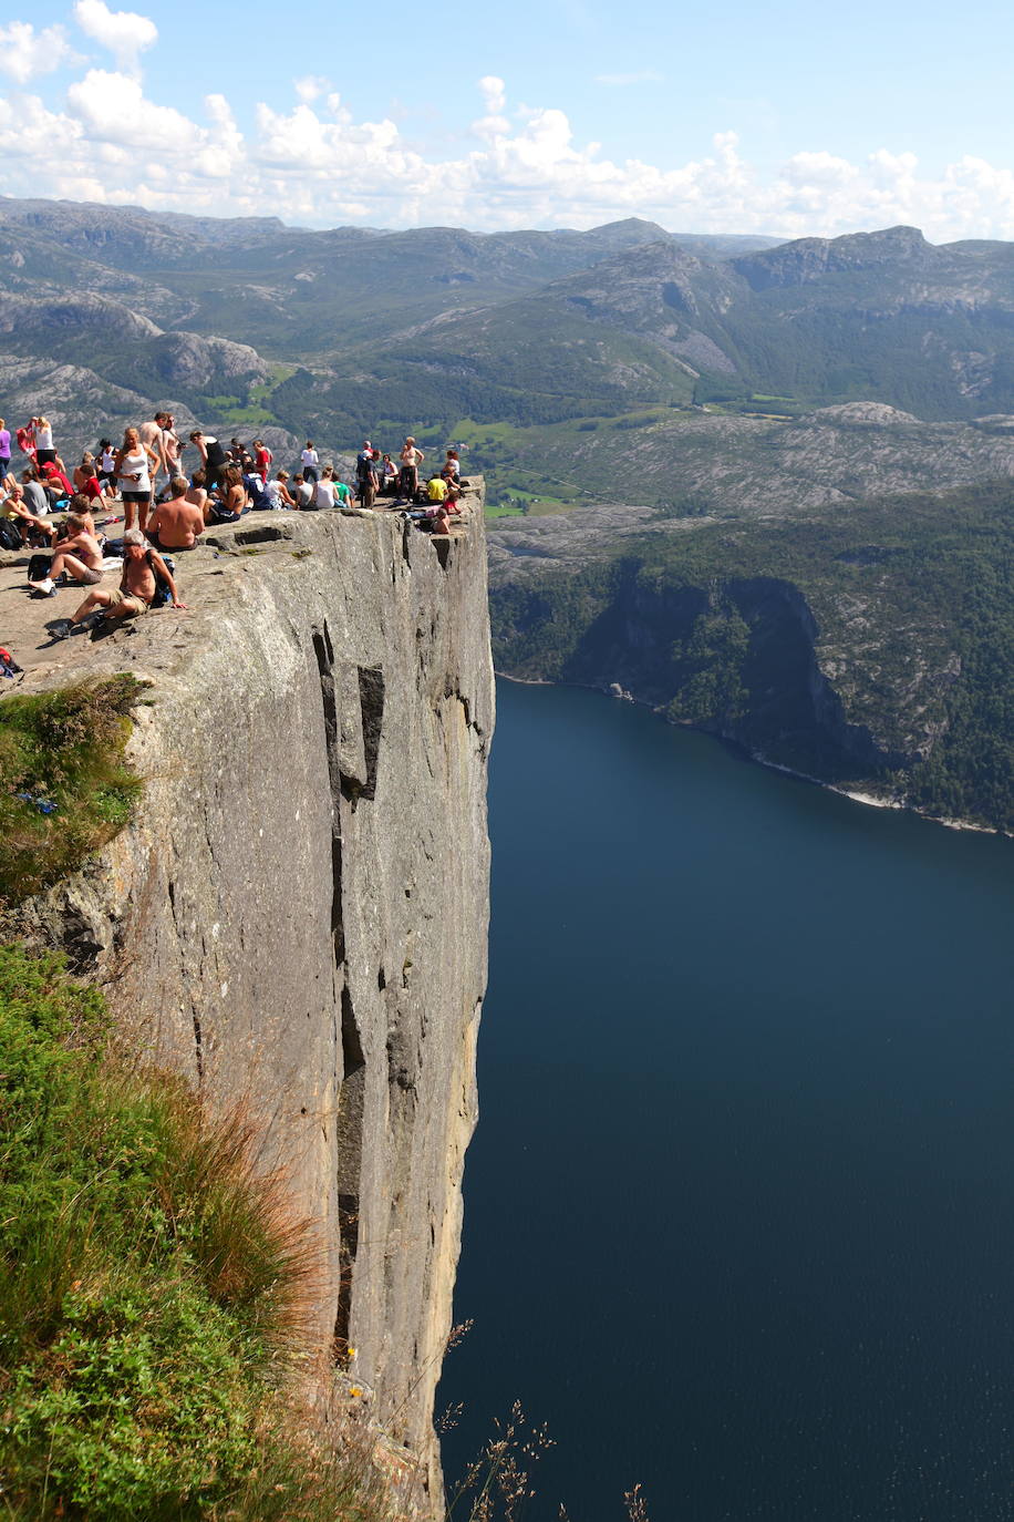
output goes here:
<path id="1" fill-rule="evenodd" d="M 189 612 L 53 647 L 30 685 L 152 682 L 140 817 L 32 924 L 129 1038 L 263 1126 L 319 1227 L 327 1411 L 347 1348 L 439 1481 L 485 988 L 493 731 L 480 492 L 461 537 L 386 514 L 255 514 L 178 557 Z"/>

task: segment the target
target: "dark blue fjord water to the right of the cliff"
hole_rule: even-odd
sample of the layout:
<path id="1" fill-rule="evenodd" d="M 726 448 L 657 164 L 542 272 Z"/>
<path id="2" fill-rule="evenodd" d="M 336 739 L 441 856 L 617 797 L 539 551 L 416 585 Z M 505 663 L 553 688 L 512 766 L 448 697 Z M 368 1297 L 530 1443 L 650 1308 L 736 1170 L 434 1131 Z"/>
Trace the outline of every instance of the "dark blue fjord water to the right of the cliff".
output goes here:
<path id="1" fill-rule="evenodd" d="M 526 1517 L 1014 1519 L 1014 843 L 500 683 L 444 1402 Z"/>

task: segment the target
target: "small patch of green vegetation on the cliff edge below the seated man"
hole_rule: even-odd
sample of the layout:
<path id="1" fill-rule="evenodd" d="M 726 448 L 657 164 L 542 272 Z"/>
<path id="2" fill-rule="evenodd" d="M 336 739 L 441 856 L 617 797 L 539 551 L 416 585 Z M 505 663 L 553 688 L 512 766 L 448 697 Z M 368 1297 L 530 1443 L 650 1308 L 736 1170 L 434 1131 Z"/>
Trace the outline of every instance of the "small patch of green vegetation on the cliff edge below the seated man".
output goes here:
<path id="1" fill-rule="evenodd" d="M 123 759 L 132 676 L 0 703 L 0 903 L 56 883 L 126 823 L 141 790 Z"/>

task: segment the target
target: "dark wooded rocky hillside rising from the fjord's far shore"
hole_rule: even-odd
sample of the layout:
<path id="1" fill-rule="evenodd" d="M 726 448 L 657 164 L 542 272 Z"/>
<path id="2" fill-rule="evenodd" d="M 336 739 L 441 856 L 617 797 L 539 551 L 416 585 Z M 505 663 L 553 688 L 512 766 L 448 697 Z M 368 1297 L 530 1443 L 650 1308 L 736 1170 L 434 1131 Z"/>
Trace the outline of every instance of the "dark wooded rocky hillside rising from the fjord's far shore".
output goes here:
<path id="1" fill-rule="evenodd" d="M 585 508 L 490 536 L 494 654 L 780 766 L 1011 829 L 1012 493 L 806 517 Z"/>

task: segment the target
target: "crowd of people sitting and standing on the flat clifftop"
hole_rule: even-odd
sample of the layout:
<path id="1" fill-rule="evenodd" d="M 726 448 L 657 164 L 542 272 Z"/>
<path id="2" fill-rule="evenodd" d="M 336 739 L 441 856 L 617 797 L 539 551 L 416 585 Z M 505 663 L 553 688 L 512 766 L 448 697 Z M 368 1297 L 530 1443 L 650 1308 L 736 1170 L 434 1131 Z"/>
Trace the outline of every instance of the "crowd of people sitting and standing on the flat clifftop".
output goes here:
<path id="1" fill-rule="evenodd" d="M 15 446 L 24 457 L 17 470 Z M 193 454 L 184 463 L 187 451 Z M 172 412 L 160 411 L 128 428 L 119 446 L 100 438 L 68 473 L 47 417 L 32 417 L 14 438 L 0 417 L 0 546 L 35 551 L 32 597 L 52 598 L 64 586 L 87 589 L 71 618 L 50 626 L 53 638 L 67 638 L 161 601 L 185 607 L 173 557 L 193 549 L 208 527 L 236 524 L 249 511 L 389 507 L 421 530 L 447 533 L 461 513 L 458 451 L 448 447 L 429 476 L 424 463 L 412 435 L 397 460 L 366 438 L 353 479 L 342 481 L 307 438 L 299 469 L 290 473 L 275 469 L 263 438 L 231 438 L 227 446 L 198 428 L 184 440 Z M 102 513 L 109 516 L 100 521 Z M 109 591 L 99 583 L 114 569 L 120 583 Z"/>

